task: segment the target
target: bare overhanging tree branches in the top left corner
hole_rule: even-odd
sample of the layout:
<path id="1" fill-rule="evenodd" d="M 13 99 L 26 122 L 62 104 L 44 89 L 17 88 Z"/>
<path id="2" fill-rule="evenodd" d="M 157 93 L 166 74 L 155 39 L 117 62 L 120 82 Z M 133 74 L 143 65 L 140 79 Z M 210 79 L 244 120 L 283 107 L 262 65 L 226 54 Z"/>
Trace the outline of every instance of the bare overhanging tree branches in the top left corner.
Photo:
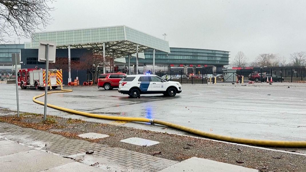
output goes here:
<path id="1" fill-rule="evenodd" d="M 29 37 L 40 27 L 50 24 L 49 3 L 54 0 L 0 0 L 0 42 L 9 42 L 7 37 Z"/>

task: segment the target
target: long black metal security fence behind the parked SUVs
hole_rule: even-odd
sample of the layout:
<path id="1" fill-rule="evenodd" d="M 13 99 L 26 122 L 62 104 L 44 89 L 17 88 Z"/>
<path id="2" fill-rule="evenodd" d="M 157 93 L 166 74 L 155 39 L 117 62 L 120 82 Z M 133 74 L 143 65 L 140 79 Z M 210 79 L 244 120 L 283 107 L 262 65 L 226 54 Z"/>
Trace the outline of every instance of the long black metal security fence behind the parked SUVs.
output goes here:
<path id="1" fill-rule="evenodd" d="M 154 74 L 162 79 L 169 81 L 178 81 L 182 84 L 204 84 L 215 82 L 306 82 L 306 68 L 304 67 L 277 67 L 260 68 L 248 67 L 237 69 L 215 68 L 215 67 L 181 67 L 181 68 L 161 68 L 153 70 L 152 68 L 140 67 L 138 72 L 136 68 L 120 71 L 108 71 L 106 73 L 122 72 L 128 75 L 135 74 Z M 159 69 L 160 68 L 160 69 Z M 103 74 L 103 70 L 87 71 L 87 79 L 95 80 Z M 95 76 L 95 77 L 93 77 Z"/>

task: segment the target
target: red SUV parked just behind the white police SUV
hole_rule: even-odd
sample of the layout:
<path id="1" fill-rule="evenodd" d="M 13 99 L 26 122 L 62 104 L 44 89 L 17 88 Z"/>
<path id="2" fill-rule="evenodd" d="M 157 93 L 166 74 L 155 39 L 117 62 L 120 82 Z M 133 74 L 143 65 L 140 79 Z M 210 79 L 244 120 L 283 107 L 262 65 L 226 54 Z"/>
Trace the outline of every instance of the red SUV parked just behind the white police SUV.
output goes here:
<path id="1" fill-rule="evenodd" d="M 123 76 L 126 76 L 125 73 L 109 73 L 102 74 L 98 79 L 98 88 L 103 87 L 104 90 L 111 90 L 113 88 L 119 87 L 119 81 Z"/>

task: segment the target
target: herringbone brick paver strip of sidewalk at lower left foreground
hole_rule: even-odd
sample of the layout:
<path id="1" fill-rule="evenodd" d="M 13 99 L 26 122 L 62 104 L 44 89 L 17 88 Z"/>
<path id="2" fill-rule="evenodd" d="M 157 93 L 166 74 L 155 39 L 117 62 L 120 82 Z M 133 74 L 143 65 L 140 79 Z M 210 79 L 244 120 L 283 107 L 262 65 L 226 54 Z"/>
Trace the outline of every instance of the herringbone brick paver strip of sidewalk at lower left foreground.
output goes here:
<path id="1" fill-rule="evenodd" d="M 150 156 L 122 148 L 69 139 L 31 128 L 22 128 L 9 123 L 0 123 L 0 137 L 59 156 L 75 160 L 108 171 L 159 171 L 177 163 L 169 159 Z M 85 154 L 93 150 L 93 154 Z"/>

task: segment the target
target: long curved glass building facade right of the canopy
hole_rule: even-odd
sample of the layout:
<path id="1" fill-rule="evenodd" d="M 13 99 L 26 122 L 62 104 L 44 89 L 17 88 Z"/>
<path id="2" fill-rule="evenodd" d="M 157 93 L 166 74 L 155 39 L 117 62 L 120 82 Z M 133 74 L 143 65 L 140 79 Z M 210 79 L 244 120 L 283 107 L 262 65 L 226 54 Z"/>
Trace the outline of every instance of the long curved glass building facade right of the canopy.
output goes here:
<path id="1" fill-rule="evenodd" d="M 210 50 L 210 49 L 194 49 L 194 48 L 174 48 L 170 47 L 171 53 L 155 51 L 155 65 L 175 66 L 183 65 L 214 65 L 223 67 L 229 64 L 229 51 Z M 139 59 L 140 65 L 153 64 L 153 50 L 144 52 L 144 59 Z M 128 62 L 128 58 L 125 59 Z M 131 65 L 136 65 L 136 59 L 131 58 Z"/>

